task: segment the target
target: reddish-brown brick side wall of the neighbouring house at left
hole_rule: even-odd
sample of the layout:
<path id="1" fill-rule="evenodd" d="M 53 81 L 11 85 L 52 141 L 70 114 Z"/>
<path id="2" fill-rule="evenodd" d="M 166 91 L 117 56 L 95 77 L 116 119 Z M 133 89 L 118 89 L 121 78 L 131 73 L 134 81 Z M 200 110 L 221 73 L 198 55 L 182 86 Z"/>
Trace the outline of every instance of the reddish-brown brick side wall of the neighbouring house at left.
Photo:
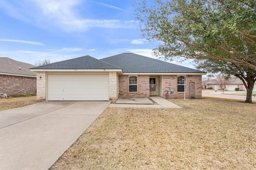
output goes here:
<path id="1" fill-rule="evenodd" d="M 0 93 L 6 93 L 7 96 L 14 94 L 35 94 L 36 78 L 0 74 Z"/>

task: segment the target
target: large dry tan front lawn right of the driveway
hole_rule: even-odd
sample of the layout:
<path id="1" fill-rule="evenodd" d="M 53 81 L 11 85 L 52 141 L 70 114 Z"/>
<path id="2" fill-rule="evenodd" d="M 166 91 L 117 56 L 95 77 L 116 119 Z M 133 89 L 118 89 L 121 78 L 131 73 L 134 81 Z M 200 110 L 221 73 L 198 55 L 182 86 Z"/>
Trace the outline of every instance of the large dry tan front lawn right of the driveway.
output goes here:
<path id="1" fill-rule="evenodd" d="M 256 169 L 255 104 L 170 101 L 184 109 L 106 109 L 50 169 Z"/>

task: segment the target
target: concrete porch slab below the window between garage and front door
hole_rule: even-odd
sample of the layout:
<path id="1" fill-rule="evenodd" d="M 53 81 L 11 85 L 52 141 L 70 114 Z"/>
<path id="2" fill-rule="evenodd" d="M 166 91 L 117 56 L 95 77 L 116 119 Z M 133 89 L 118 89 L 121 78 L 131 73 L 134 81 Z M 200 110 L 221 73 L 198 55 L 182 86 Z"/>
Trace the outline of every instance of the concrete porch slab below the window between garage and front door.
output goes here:
<path id="1" fill-rule="evenodd" d="M 118 98 L 116 104 L 154 104 L 148 98 Z"/>

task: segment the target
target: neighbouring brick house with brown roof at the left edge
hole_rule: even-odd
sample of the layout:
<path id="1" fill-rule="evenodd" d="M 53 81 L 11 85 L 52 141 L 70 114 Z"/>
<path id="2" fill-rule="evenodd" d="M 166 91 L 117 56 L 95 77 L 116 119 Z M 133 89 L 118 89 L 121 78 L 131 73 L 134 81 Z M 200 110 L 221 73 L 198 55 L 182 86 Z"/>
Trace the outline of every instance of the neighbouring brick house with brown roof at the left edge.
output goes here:
<path id="1" fill-rule="evenodd" d="M 0 94 L 35 94 L 36 73 L 32 64 L 0 57 Z"/>

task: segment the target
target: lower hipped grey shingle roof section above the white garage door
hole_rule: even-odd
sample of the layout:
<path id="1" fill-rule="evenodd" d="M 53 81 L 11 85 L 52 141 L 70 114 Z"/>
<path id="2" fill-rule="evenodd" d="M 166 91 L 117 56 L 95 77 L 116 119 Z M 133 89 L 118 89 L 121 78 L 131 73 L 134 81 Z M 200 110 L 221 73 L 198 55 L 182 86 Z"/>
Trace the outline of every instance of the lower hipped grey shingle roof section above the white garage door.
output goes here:
<path id="1" fill-rule="evenodd" d="M 69 59 L 44 66 L 37 66 L 31 69 L 121 69 L 112 64 L 95 59 L 89 55 Z"/>

